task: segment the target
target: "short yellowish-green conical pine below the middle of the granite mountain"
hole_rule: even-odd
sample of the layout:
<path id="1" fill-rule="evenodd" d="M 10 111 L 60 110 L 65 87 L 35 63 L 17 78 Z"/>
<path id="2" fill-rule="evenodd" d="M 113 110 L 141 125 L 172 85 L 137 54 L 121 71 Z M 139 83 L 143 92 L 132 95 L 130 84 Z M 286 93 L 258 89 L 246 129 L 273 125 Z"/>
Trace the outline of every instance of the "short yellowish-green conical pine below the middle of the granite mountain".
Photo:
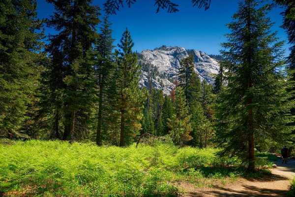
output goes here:
<path id="1" fill-rule="evenodd" d="M 182 87 L 176 88 L 175 112 L 171 119 L 168 120 L 170 136 L 174 143 L 183 145 L 184 142 L 192 140 L 190 133 L 192 131 L 190 124 L 190 115 L 186 106 L 184 91 Z"/>

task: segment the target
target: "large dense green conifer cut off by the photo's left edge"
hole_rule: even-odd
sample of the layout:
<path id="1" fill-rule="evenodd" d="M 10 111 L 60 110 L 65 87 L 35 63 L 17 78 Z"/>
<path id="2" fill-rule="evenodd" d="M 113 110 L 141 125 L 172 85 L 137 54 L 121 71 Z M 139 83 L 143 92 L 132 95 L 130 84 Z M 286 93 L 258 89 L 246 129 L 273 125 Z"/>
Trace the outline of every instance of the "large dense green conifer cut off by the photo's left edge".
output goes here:
<path id="1" fill-rule="evenodd" d="M 19 133 L 38 87 L 42 22 L 36 19 L 35 0 L 0 2 L 0 136 Z"/>

